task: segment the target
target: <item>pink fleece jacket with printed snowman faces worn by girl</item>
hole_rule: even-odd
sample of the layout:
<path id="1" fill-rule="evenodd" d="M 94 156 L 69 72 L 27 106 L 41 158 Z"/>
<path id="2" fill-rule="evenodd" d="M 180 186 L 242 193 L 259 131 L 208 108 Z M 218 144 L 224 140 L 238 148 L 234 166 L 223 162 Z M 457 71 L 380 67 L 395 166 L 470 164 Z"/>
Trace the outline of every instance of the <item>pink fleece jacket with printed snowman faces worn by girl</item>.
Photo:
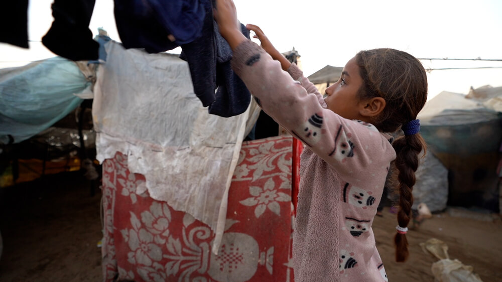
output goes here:
<path id="1" fill-rule="evenodd" d="M 232 68 L 262 109 L 305 145 L 293 236 L 295 280 L 387 281 L 371 224 L 396 158 L 392 137 L 326 109 L 296 65 L 288 74 L 253 42 L 234 50 Z"/>

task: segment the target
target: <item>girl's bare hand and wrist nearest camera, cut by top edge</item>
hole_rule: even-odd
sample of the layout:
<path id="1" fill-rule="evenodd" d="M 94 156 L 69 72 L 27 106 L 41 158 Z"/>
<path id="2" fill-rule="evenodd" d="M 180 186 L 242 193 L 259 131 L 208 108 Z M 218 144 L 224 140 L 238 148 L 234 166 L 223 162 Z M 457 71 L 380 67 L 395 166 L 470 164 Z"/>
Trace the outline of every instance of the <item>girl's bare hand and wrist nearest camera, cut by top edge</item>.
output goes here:
<path id="1" fill-rule="evenodd" d="M 214 20 L 218 23 L 221 36 L 228 42 L 230 48 L 235 49 L 239 43 L 247 38 L 240 30 L 237 20 L 237 9 L 232 0 L 216 0 L 216 9 L 213 11 Z"/>

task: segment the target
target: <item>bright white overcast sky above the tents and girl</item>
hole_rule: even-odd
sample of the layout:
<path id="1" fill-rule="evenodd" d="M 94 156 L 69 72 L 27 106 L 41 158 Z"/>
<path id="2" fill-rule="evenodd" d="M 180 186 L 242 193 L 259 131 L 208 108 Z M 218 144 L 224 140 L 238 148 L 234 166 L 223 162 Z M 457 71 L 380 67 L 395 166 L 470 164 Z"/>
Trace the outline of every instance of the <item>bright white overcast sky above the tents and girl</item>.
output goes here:
<path id="1" fill-rule="evenodd" d="M 295 47 L 306 76 L 343 67 L 359 50 L 390 47 L 417 58 L 502 59 L 502 1 L 234 0 L 243 24 L 260 26 L 276 48 Z M 0 43 L 0 68 L 53 57 L 40 40 L 53 21 L 52 0 L 30 0 L 30 49 Z M 89 28 L 120 41 L 113 1 L 97 0 Z M 64 40 L 64 39 L 61 39 Z M 175 50 L 178 51 L 179 50 Z M 422 61 L 426 68 L 502 67 L 502 61 Z M 502 86 L 502 68 L 433 70 L 429 97 L 446 90 Z"/>

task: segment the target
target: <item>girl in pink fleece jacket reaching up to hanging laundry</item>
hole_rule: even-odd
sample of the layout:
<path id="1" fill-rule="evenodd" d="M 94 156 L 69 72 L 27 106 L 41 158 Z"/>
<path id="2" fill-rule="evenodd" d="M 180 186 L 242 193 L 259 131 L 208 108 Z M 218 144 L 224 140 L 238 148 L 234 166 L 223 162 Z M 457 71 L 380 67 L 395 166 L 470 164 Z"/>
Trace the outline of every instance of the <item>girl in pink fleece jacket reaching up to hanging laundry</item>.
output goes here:
<path id="1" fill-rule="evenodd" d="M 242 35 L 231 0 L 217 0 L 214 16 L 233 50 L 235 73 L 262 109 L 305 145 L 293 237 L 295 280 L 387 281 L 371 224 L 396 159 L 396 259 L 404 261 L 414 172 L 425 146 L 416 120 L 427 100 L 421 63 L 394 49 L 361 51 L 323 98 L 260 28 L 247 26 L 261 47 Z M 405 135 L 396 140 L 384 133 L 398 129 Z"/>

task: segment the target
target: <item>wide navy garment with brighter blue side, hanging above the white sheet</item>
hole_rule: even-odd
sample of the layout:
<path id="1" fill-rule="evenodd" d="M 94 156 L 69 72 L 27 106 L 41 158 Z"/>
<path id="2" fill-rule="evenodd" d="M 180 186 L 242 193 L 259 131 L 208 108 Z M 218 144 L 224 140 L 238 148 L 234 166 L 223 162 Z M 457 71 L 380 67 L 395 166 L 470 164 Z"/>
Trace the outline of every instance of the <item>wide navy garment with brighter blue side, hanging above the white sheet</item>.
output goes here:
<path id="1" fill-rule="evenodd" d="M 114 0 L 124 48 L 148 53 L 172 50 L 199 37 L 209 0 Z M 212 11 L 210 12 L 212 17 Z"/>

